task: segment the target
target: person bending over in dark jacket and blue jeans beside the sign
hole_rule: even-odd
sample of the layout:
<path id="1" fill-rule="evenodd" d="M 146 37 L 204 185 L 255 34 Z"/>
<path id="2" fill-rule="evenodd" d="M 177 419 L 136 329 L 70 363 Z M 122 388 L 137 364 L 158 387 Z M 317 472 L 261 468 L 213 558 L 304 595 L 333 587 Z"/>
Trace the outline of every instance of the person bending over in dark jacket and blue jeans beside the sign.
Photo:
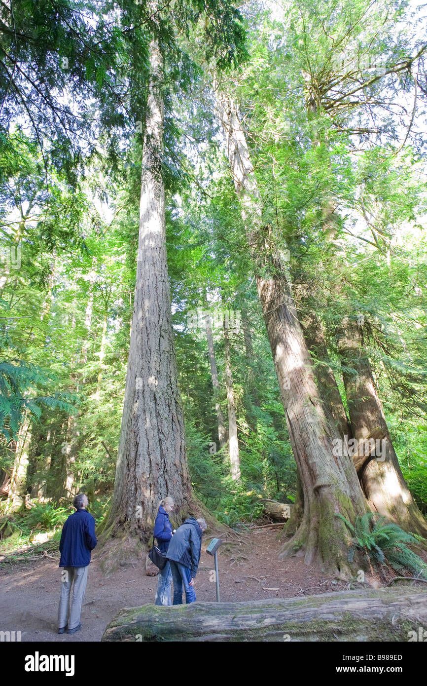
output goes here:
<path id="1" fill-rule="evenodd" d="M 189 517 L 175 531 L 169 543 L 166 557 L 171 563 L 174 605 L 182 605 L 182 586 L 185 591 L 185 602 L 188 604 L 196 600 L 194 579 L 202 551 L 202 534 L 207 526 L 204 519 Z"/>

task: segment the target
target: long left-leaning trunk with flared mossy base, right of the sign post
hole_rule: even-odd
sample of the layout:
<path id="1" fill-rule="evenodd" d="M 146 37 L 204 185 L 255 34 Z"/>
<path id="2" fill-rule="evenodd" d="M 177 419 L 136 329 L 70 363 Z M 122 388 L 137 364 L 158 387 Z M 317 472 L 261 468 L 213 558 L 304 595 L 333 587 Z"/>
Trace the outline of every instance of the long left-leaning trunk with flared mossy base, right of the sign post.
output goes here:
<path id="1" fill-rule="evenodd" d="M 236 193 L 241 198 L 258 295 L 304 493 L 302 522 L 291 541 L 282 547 L 280 557 L 298 549 L 307 564 L 317 560 L 335 573 L 346 573 L 348 534 L 336 514 L 354 521 L 356 515 L 366 510 L 365 498 L 350 458 L 333 453 L 289 277 L 280 258 L 271 255 L 266 244 L 268 234 L 260 226 L 260 194 L 236 108 L 228 97 L 219 95 L 218 110 Z M 267 257 L 262 259 L 263 255 Z"/>

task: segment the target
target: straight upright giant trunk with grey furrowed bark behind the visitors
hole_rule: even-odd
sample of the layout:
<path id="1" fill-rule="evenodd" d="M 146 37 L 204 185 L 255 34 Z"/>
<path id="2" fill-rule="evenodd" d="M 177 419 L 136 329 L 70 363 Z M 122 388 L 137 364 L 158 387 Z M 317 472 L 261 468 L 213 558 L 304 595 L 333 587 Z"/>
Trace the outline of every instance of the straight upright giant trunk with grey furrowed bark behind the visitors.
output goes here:
<path id="1" fill-rule="evenodd" d="M 147 538 L 158 501 L 168 493 L 177 510 L 191 507 L 184 414 L 178 391 L 167 269 L 160 50 L 150 45 L 151 78 L 143 171 L 134 315 L 112 508 L 108 523 Z"/>

